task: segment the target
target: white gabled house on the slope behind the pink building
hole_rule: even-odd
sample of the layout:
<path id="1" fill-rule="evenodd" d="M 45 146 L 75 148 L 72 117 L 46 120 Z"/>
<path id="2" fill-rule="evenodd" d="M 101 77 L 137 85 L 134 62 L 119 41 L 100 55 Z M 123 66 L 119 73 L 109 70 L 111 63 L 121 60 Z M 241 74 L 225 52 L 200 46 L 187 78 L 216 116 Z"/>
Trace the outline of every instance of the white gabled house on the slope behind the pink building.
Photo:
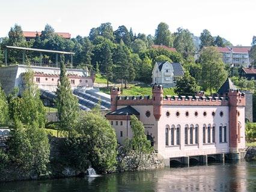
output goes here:
<path id="1" fill-rule="evenodd" d="M 176 85 L 176 79 L 183 75 L 184 70 L 178 62 L 156 62 L 152 71 L 152 83 L 161 84 L 165 88 L 171 88 Z"/>

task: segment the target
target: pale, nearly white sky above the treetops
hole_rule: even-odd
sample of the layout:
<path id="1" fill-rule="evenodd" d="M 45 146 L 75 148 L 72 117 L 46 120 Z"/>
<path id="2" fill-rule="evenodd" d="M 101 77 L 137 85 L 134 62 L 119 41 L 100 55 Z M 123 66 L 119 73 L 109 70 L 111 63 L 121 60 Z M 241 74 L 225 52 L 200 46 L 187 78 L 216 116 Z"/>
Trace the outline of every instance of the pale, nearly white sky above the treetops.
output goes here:
<path id="1" fill-rule="evenodd" d="M 165 22 L 171 32 L 189 29 L 200 36 L 208 29 L 234 45 L 250 46 L 256 35 L 255 0 L 0 0 L 0 37 L 15 23 L 23 31 L 42 31 L 50 24 L 56 32 L 88 36 L 90 29 L 110 22 L 154 35 Z"/>

